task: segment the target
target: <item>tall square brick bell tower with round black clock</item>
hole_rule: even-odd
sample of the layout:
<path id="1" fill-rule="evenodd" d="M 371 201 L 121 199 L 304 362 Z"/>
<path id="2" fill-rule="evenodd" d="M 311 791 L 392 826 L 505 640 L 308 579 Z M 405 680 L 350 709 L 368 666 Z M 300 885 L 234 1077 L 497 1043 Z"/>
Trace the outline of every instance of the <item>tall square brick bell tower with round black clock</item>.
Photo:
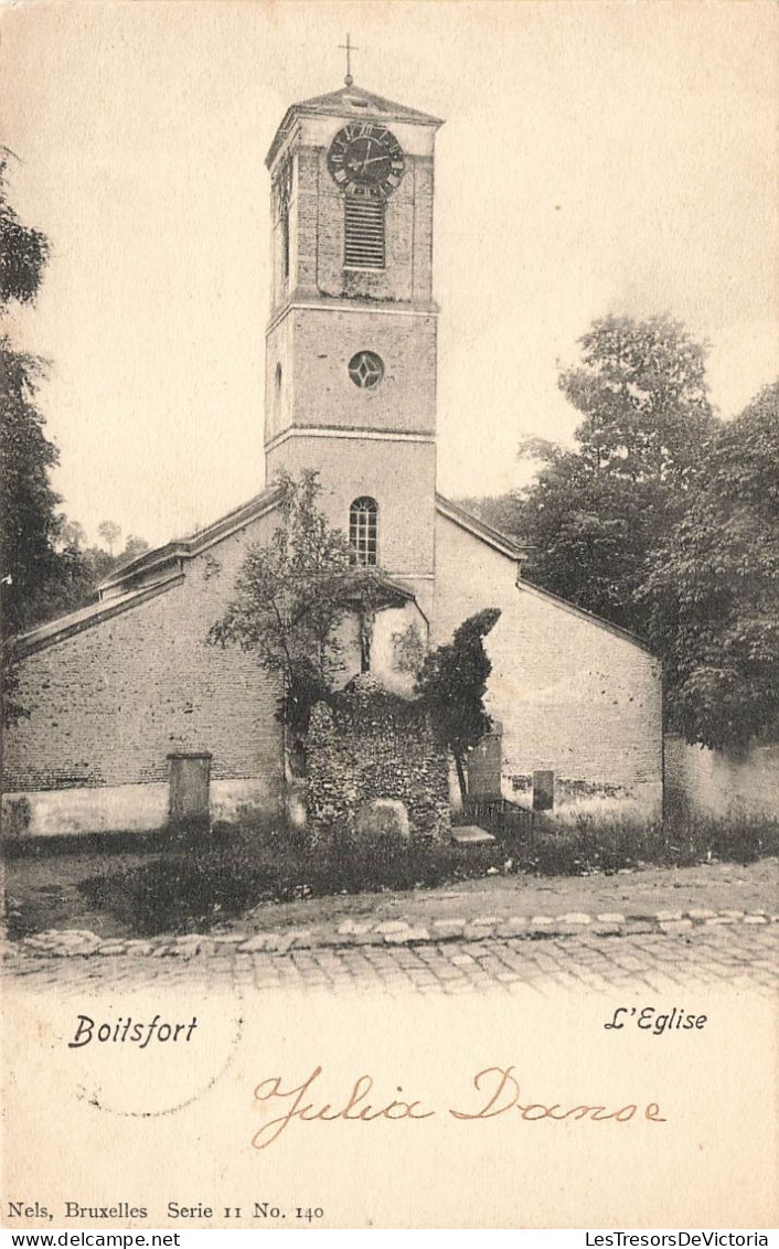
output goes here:
<path id="1" fill-rule="evenodd" d="M 316 468 L 365 563 L 434 575 L 433 147 L 441 121 L 347 86 L 292 105 L 266 159 L 267 481 Z"/>

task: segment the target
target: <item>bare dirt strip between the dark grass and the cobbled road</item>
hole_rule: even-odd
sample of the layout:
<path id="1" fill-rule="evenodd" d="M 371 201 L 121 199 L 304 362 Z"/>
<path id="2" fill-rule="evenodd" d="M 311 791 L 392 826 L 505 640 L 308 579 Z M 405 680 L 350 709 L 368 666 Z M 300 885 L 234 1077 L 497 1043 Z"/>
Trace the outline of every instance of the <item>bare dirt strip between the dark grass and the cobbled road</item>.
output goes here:
<path id="1" fill-rule="evenodd" d="M 11 936 L 47 928 L 87 929 L 102 937 L 127 937 L 126 926 L 92 908 L 79 882 L 111 867 L 150 861 L 149 849 L 110 853 L 84 848 L 47 852 L 5 862 L 5 897 Z M 642 868 L 615 876 L 531 877 L 493 876 L 436 889 L 402 893 L 340 894 L 291 903 L 263 903 L 248 916 L 223 923 L 222 931 L 261 932 L 308 927 L 340 918 L 402 917 L 423 924 L 431 919 L 472 919 L 482 916 L 561 916 L 569 912 L 619 912 L 625 916 L 658 911 L 779 909 L 779 859 L 749 866 L 713 862 L 688 868 Z"/>

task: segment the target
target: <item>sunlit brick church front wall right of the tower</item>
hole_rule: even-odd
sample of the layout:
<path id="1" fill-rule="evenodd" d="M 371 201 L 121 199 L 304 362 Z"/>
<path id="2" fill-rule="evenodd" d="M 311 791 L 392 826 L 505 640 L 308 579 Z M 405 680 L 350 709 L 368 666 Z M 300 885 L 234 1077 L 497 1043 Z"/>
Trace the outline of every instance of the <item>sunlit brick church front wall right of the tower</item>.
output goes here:
<path id="1" fill-rule="evenodd" d="M 436 573 L 436 644 L 481 608 L 502 610 L 486 648 L 493 664 L 487 704 L 503 724 L 506 796 L 524 801 L 532 772 L 551 768 L 561 806 L 599 809 L 605 798 L 654 813 L 662 797 L 658 661 L 527 583 L 517 587 L 512 560 L 441 515 Z"/>

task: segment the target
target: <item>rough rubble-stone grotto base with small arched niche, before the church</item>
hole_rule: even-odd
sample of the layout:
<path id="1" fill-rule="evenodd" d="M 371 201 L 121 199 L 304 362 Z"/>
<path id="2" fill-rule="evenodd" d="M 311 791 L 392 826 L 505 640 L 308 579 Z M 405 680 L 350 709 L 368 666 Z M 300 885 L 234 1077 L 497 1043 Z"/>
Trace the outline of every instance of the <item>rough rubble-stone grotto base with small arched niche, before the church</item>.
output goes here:
<path id="1" fill-rule="evenodd" d="M 417 703 L 358 677 L 331 704 L 318 703 L 306 746 L 308 823 L 316 836 L 356 832 L 376 798 L 401 801 L 412 837 L 442 838 L 451 828 L 448 761 Z"/>

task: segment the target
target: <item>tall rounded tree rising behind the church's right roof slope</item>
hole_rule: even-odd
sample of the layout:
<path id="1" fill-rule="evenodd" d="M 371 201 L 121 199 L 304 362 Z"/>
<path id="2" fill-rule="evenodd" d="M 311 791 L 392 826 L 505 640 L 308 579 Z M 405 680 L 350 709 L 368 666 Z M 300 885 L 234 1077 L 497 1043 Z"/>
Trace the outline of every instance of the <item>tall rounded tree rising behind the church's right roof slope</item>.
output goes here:
<path id="1" fill-rule="evenodd" d="M 581 363 L 559 378 L 583 416 L 578 446 L 521 447 L 543 467 L 516 528 L 534 548 L 531 580 L 643 634 L 649 561 L 683 515 L 717 428 L 707 348 L 669 317 L 605 317 L 581 345 Z"/>

